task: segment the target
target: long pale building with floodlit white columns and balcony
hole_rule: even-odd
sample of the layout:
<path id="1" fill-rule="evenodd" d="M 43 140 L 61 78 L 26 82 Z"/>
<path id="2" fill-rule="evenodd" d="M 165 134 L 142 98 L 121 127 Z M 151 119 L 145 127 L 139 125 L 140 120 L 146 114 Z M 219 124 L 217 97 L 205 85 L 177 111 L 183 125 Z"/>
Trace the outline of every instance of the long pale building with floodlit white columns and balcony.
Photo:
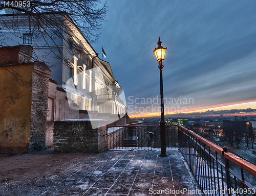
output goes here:
<path id="1" fill-rule="evenodd" d="M 2 17 L 4 24 L 0 30 L 1 44 L 31 45 L 34 58 L 48 65 L 51 69 L 50 78 L 56 81 L 57 87 L 67 92 L 72 109 L 109 114 L 126 113 L 123 89 L 116 81 L 110 63 L 98 57 L 72 21 L 63 19 L 63 25 L 68 27 L 69 32 L 52 27 L 43 36 L 39 36 L 27 28 L 30 22 L 27 17 L 17 17 L 20 18 L 17 20 L 20 21 L 17 22 L 19 32 L 8 30 L 13 25 L 12 16 Z"/>

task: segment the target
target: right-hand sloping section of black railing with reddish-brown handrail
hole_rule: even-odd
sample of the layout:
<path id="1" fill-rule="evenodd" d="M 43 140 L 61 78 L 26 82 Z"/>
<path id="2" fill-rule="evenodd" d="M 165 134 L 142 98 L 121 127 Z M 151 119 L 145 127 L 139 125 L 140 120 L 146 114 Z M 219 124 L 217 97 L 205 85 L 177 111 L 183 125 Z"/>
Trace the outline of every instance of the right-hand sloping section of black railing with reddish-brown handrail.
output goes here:
<path id="1" fill-rule="evenodd" d="M 256 195 L 256 166 L 227 150 L 179 126 L 179 151 L 204 195 Z"/>

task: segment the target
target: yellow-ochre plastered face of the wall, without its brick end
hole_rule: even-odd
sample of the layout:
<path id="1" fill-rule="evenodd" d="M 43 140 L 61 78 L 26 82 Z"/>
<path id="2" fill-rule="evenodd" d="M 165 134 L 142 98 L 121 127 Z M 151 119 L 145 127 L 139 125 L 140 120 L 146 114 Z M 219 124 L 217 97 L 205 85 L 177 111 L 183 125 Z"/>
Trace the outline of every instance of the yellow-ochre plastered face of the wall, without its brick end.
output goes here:
<path id="1" fill-rule="evenodd" d="M 29 152 L 31 80 L 33 64 L 0 67 L 0 153 Z M 11 68 L 23 82 L 18 83 Z"/>

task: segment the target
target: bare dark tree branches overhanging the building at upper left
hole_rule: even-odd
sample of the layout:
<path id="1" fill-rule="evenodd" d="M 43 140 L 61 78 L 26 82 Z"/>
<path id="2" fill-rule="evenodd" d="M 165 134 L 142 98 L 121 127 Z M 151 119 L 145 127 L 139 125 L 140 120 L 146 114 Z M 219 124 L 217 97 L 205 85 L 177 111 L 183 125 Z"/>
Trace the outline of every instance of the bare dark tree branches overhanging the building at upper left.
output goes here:
<path id="1" fill-rule="evenodd" d="M 33 48 L 39 48 L 38 40 L 44 41 L 43 47 L 50 48 L 51 52 L 40 54 L 33 53 L 33 61 L 50 62 L 51 57 L 60 59 L 68 63 L 69 59 L 63 55 L 62 44 L 56 42 L 56 37 L 63 42 L 69 43 L 74 53 L 87 53 L 81 50 L 72 37 L 75 31 L 80 31 L 89 42 L 97 42 L 101 28 L 101 22 L 108 7 L 107 2 L 100 0 L 44 0 L 44 1 L 0 1 L 0 46 L 17 45 L 14 44 L 16 38 L 24 39 L 24 29 L 33 35 Z M 20 4 L 22 3 L 22 4 Z M 75 31 L 74 31 L 75 29 Z M 11 38 L 13 35 L 14 38 Z M 32 38 L 27 38 L 28 42 Z M 72 39 L 72 41 L 71 41 Z M 30 44 L 30 43 L 29 43 Z M 88 54 L 88 53 L 87 53 Z M 1 54 L 0 54 L 1 55 Z M 52 67 L 51 63 L 47 64 Z M 3 66 L 0 62 L 0 66 Z M 17 73 L 12 72 L 15 79 L 21 84 L 23 81 Z"/>

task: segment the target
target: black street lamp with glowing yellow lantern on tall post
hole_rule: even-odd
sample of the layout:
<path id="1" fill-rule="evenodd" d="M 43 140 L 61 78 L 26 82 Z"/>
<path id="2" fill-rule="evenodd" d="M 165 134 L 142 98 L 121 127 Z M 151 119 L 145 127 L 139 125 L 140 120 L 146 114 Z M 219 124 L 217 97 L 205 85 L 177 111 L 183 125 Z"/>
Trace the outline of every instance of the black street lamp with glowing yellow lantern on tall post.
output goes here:
<path id="1" fill-rule="evenodd" d="M 165 120 L 164 120 L 164 104 L 163 104 L 163 60 L 166 52 L 166 48 L 161 45 L 160 37 L 158 39 L 158 47 L 155 48 L 154 54 L 159 61 L 160 69 L 160 96 L 161 96 L 161 120 L 160 120 L 160 138 L 161 138 L 161 154 L 160 157 L 166 157 L 166 139 L 165 139 Z"/>

